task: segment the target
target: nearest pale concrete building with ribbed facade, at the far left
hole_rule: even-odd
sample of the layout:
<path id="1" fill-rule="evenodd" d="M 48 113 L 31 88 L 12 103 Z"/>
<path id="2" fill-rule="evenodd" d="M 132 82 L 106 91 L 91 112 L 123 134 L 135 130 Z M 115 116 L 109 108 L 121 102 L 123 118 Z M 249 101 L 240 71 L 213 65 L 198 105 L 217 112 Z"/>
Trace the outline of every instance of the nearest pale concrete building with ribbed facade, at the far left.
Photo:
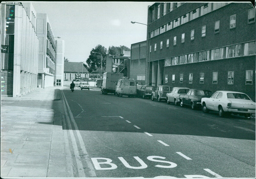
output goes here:
<path id="1" fill-rule="evenodd" d="M 38 44 L 32 4 L 1 3 L 1 95 L 17 97 L 37 88 Z"/>

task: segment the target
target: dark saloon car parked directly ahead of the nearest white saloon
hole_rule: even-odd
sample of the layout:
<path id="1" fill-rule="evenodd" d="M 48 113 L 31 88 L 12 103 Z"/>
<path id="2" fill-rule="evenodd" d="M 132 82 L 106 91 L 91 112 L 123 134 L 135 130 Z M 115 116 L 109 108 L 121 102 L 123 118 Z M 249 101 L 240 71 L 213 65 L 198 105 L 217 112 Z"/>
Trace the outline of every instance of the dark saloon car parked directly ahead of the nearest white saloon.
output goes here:
<path id="1" fill-rule="evenodd" d="M 191 109 L 201 107 L 203 97 L 211 97 L 212 91 L 204 89 L 189 89 L 186 95 L 180 95 L 180 106 L 191 106 Z"/>

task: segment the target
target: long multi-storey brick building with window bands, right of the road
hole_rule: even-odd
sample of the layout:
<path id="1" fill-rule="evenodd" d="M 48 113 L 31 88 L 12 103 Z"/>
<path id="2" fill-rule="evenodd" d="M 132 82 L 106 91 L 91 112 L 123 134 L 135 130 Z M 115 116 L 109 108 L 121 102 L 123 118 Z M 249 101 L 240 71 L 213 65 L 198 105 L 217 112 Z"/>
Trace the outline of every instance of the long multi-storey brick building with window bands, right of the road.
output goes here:
<path id="1" fill-rule="evenodd" d="M 251 3 L 155 3 L 146 81 L 240 91 L 255 101 L 255 30 Z"/>

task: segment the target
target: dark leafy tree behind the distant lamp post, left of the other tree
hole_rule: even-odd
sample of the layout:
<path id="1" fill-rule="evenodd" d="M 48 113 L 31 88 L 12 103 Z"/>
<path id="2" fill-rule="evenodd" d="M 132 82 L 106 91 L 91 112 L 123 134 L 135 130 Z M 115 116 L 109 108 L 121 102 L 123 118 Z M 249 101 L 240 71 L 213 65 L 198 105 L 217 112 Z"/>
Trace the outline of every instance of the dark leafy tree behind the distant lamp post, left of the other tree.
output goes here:
<path id="1" fill-rule="evenodd" d="M 101 55 L 97 53 L 92 53 L 92 52 L 97 52 L 102 55 L 102 69 L 103 67 L 106 68 L 106 57 L 107 57 L 107 48 L 97 45 L 95 48 L 92 49 L 90 52 L 89 58 L 86 60 L 86 63 L 88 65 L 87 70 L 92 73 L 98 68 L 101 68 Z"/>

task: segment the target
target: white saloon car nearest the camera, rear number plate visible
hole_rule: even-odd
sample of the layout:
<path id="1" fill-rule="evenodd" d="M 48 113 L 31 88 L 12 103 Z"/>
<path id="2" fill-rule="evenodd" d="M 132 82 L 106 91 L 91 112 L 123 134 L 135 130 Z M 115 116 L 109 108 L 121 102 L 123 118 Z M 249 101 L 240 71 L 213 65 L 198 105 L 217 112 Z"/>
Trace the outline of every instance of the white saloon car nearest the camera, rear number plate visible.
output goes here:
<path id="1" fill-rule="evenodd" d="M 212 97 L 202 98 L 201 104 L 204 112 L 219 111 L 220 117 L 233 113 L 251 118 L 255 114 L 255 102 L 246 94 L 236 91 L 216 91 Z"/>

